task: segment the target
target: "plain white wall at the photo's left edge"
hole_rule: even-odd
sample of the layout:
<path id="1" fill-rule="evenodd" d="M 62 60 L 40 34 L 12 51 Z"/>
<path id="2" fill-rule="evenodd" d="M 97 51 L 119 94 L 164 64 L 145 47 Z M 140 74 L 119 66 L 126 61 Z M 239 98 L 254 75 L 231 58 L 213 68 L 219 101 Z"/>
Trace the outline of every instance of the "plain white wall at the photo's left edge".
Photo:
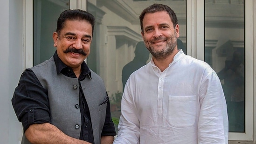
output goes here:
<path id="1" fill-rule="evenodd" d="M 19 144 L 22 136 L 11 98 L 22 68 L 22 0 L 0 5 L 0 144 Z"/>

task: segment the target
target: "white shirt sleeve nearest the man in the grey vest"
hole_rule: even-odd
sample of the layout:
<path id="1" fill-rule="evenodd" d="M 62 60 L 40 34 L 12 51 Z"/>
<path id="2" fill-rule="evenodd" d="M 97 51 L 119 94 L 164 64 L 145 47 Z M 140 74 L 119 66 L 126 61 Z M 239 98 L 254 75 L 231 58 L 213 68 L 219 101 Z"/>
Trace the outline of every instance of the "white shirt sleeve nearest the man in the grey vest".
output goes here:
<path id="1" fill-rule="evenodd" d="M 113 144 L 140 144 L 138 111 L 136 110 L 132 90 L 129 83 L 127 83 L 121 102 L 118 135 Z"/>

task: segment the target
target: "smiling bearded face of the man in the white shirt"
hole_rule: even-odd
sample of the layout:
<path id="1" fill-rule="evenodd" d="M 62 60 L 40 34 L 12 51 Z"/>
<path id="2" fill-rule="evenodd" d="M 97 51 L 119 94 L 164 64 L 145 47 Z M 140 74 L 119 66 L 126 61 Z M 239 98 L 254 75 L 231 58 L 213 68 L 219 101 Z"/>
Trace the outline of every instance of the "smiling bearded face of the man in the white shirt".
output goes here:
<path id="1" fill-rule="evenodd" d="M 141 32 L 146 48 L 153 58 L 163 60 L 177 50 L 179 25 L 173 27 L 173 22 L 165 11 L 147 13 L 143 19 Z"/>

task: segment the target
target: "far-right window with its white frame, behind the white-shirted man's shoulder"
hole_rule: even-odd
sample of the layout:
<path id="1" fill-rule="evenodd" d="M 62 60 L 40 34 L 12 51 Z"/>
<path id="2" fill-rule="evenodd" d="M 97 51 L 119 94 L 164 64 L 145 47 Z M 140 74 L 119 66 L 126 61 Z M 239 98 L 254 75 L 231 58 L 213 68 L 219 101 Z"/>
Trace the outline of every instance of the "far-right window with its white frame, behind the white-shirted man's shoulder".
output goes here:
<path id="1" fill-rule="evenodd" d="M 229 140 L 253 140 L 252 0 L 204 1 L 204 60 L 225 94 Z"/>

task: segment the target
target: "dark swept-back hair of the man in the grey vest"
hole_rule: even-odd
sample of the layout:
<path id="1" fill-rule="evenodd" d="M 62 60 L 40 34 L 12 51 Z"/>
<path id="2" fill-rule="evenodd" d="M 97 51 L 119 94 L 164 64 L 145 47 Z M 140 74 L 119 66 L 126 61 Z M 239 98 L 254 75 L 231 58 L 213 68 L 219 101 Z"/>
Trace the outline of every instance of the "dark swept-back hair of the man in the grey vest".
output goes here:
<path id="1" fill-rule="evenodd" d="M 94 30 L 94 24 L 95 24 L 95 18 L 92 14 L 83 11 L 81 9 L 68 9 L 63 11 L 60 14 L 60 17 L 58 18 L 57 21 L 57 28 L 56 28 L 56 32 L 58 34 L 60 34 L 60 31 L 63 29 L 65 22 L 67 20 L 73 21 L 73 20 L 84 20 L 84 21 L 88 21 L 91 24 L 92 27 L 92 35 L 93 35 L 93 30 Z"/>

